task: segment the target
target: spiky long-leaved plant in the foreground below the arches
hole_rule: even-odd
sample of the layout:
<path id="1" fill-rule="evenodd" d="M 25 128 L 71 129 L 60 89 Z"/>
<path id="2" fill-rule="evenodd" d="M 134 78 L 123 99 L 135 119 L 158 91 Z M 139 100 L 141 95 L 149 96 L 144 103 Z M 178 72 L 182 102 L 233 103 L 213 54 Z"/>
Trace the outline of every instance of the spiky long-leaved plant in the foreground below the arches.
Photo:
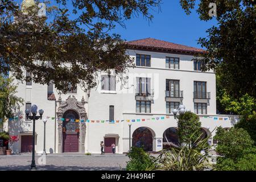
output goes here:
<path id="1" fill-rule="evenodd" d="M 193 133 L 190 139 L 193 138 Z M 181 145 L 180 147 L 171 147 L 170 150 L 163 150 L 158 156 L 158 165 L 151 170 L 164 171 L 203 171 L 210 167 L 209 164 L 209 144 L 207 138 L 198 137 L 195 141 L 189 144 Z M 205 151 L 201 154 L 201 151 Z M 149 169 L 148 169 L 149 170 Z"/>

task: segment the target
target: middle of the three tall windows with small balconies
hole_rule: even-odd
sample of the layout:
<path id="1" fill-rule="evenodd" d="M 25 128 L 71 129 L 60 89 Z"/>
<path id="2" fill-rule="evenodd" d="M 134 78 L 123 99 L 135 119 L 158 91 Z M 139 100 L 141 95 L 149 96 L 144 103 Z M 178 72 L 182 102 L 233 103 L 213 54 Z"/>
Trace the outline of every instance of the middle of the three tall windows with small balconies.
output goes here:
<path id="1" fill-rule="evenodd" d="M 166 79 L 166 97 L 181 97 L 179 80 Z"/>

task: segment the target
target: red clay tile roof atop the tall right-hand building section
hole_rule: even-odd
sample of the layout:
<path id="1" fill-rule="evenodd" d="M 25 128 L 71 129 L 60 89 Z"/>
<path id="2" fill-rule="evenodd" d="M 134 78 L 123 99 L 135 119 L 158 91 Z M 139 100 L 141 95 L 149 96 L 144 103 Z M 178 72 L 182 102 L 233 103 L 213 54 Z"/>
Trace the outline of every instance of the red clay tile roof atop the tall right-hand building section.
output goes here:
<path id="1" fill-rule="evenodd" d="M 140 40 L 133 40 L 126 42 L 127 47 L 131 49 L 158 49 L 162 51 L 171 51 L 171 52 L 183 52 L 183 53 L 206 53 L 204 49 L 195 48 L 195 47 L 189 47 L 189 46 L 183 46 L 180 44 L 175 44 L 171 42 L 166 42 L 163 40 L 157 40 L 152 38 L 147 39 L 140 39 Z"/>

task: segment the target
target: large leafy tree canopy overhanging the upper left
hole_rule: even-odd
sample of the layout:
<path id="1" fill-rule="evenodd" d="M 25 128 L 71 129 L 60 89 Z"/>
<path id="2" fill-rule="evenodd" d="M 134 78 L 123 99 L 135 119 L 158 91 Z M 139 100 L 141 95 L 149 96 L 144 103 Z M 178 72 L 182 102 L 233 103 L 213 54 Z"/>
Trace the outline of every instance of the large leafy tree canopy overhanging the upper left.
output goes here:
<path id="1" fill-rule="evenodd" d="M 56 0 L 46 2 L 46 17 L 38 16 L 38 3 L 20 10 L 13 0 L 0 1 L 0 71 L 18 80 L 27 80 L 29 71 L 34 82 L 52 81 L 67 92 L 69 83 L 96 86 L 98 71 L 119 74 L 133 67 L 124 41 L 109 30 L 139 14 L 151 20 L 149 10 L 160 0 Z"/>

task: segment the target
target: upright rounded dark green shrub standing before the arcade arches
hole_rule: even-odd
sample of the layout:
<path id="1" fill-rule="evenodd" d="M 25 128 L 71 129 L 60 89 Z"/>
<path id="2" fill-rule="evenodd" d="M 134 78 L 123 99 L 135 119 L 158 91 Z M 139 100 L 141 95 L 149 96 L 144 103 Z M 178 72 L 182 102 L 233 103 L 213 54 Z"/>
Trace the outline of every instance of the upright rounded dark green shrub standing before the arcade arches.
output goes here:
<path id="1" fill-rule="evenodd" d="M 180 143 L 195 142 L 201 135 L 201 122 L 199 117 L 192 112 L 185 112 L 179 116 L 178 135 Z M 193 136 L 191 138 L 191 136 Z"/>

